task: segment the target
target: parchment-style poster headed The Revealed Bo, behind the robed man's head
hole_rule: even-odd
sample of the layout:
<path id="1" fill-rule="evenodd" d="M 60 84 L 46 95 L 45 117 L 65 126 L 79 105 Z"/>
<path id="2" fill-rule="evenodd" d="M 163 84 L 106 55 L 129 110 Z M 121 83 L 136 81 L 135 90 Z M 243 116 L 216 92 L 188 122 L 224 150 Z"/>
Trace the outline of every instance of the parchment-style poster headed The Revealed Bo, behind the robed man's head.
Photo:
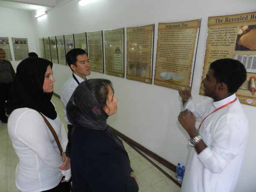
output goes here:
<path id="1" fill-rule="evenodd" d="M 247 80 L 236 95 L 241 103 L 256 106 L 256 12 L 208 18 L 202 80 L 209 65 L 221 58 L 233 58 L 244 64 Z M 204 95 L 203 85 L 200 95 Z"/>

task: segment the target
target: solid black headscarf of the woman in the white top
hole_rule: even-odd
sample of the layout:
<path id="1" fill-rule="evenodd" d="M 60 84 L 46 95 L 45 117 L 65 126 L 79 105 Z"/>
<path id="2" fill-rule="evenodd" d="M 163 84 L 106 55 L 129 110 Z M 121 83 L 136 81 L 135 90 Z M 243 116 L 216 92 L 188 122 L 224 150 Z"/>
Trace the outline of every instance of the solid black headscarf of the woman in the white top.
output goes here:
<path id="1" fill-rule="evenodd" d="M 31 108 L 40 111 L 50 119 L 57 113 L 52 105 L 52 93 L 44 93 L 44 75 L 52 62 L 44 58 L 26 58 L 17 66 L 15 79 L 6 103 L 6 113 L 18 108 Z"/>

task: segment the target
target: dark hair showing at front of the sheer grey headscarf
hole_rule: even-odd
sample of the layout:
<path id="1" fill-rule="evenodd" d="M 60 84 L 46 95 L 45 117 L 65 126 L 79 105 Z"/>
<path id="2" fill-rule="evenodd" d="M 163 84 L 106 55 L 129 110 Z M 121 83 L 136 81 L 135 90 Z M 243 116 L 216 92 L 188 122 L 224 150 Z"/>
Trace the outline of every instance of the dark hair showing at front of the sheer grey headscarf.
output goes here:
<path id="1" fill-rule="evenodd" d="M 114 88 L 111 81 L 108 79 L 88 79 L 84 82 L 99 105 L 104 109 L 108 99 L 108 85 L 111 87 L 114 93 Z"/>

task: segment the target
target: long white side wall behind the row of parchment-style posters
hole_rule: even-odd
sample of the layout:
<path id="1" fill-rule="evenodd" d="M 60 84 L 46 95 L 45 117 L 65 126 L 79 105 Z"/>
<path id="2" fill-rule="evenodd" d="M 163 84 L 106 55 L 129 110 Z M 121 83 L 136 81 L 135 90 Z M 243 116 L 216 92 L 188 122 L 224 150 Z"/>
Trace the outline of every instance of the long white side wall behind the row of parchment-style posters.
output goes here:
<path id="1" fill-rule="evenodd" d="M 38 38 L 151 23 L 155 23 L 157 32 L 158 22 L 202 18 L 192 86 L 194 102 L 202 102 L 208 99 L 198 95 L 208 17 L 250 12 L 253 9 L 256 9 L 255 0 L 95 0 L 87 5 L 80 5 L 78 0 L 72 0 L 48 11 L 47 15 L 38 19 L 34 17 L 35 13 L 32 14 L 32 23 L 36 52 L 39 53 Z M 15 26 L 12 27 L 17 29 Z M 16 31 L 15 34 L 19 33 Z M 157 49 L 157 33 L 154 42 L 153 64 Z M 60 94 L 61 85 L 71 76 L 71 70 L 69 67 L 55 64 L 53 71 L 56 79 L 54 91 Z M 173 164 L 186 163 L 189 137 L 177 121 L 180 112 L 177 90 L 95 72 L 92 72 L 89 78 L 105 78 L 113 82 L 115 96 L 119 102 L 118 112 L 108 119 L 109 125 Z M 243 108 L 250 123 L 250 137 L 236 192 L 255 192 L 256 108 L 247 105 L 243 105 Z"/>

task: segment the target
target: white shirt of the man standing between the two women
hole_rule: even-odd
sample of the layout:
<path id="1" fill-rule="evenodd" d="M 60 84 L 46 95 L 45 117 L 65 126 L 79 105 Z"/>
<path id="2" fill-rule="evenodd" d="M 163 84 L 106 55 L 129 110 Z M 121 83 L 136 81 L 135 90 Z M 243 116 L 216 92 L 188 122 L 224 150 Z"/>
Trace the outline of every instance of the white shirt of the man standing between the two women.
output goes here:
<path id="1" fill-rule="evenodd" d="M 79 77 L 78 75 L 76 75 L 74 73 L 74 76 L 76 77 L 76 79 L 79 81 L 79 83 L 83 82 L 84 79 L 82 79 L 81 77 Z M 67 103 L 70 100 L 70 97 L 72 96 L 74 90 L 76 89 L 76 87 L 78 86 L 78 83 L 76 82 L 76 80 L 73 78 L 73 76 L 70 77 L 70 79 L 68 79 L 62 86 L 61 86 L 61 102 L 63 105 L 63 111 L 64 111 L 64 119 L 67 122 L 67 124 L 71 124 L 68 119 L 67 119 L 67 111 L 66 111 L 66 106 Z"/>

